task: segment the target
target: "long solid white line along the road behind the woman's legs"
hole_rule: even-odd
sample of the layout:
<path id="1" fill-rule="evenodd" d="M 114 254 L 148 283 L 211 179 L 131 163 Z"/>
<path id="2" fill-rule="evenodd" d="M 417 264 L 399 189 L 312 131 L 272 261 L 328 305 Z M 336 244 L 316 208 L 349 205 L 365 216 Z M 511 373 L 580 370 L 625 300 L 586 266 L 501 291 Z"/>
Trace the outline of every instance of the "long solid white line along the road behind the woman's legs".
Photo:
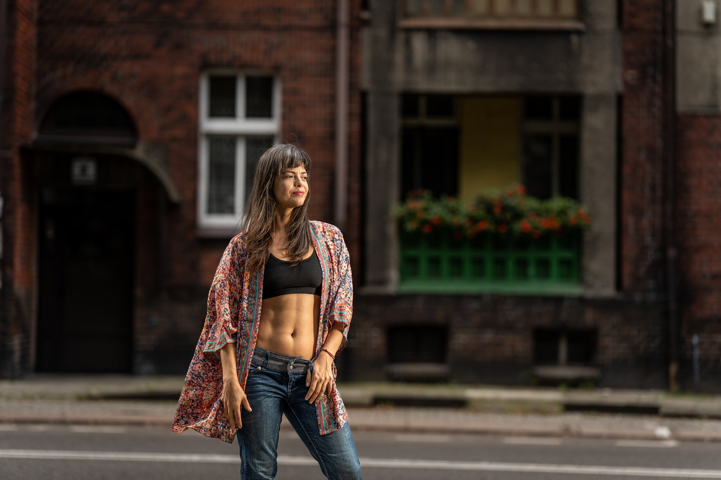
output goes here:
<path id="1" fill-rule="evenodd" d="M 48 460 L 150 461 L 185 463 L 239 463 L 238 455 L 189 453 L 90 452 L 68 450 L 0 450 L 0 458 Z M 281 465 L 316 465 L 310 457 L 278 455 Z M 433 468 L 436 470 L 513 471 L 523 473 L 676 477 L 686 479 L 721 479 L 721 470 L 690 468 L 645 468 L 593 465 L 560 465 L 552 463 L 500 463 L 410 460 L 407 458 L 361 458 L 363 468 Z"/>

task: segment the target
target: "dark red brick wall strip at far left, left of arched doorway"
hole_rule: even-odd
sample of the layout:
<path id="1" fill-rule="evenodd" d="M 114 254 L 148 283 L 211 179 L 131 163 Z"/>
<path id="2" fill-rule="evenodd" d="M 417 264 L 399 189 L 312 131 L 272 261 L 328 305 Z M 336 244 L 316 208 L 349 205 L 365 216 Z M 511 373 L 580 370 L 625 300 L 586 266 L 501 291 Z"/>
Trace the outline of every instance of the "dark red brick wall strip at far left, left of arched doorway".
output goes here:
<path id="1" fill-rule="evenodd" d="M 0 112 L 0 190 L 4 207 L 0 307 L 0 375 L 22 375 L 29 368 L 34 305 L 32 258 L 34 236 L 26 169 L 18 147 L 32 133 L 32 89 L 35 68 L 35 1 L 8 2 L 3 105 Z"/>

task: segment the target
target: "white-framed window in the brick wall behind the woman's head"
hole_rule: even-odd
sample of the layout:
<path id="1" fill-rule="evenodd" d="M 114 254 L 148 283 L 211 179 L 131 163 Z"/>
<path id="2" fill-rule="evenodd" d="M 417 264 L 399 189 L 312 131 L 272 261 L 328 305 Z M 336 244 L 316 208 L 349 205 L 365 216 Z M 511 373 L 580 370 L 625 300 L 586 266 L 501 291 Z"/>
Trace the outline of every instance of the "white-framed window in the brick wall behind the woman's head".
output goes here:
<path id="1" fill-rule="evenodd" d="M 198 226 L 235 228 L 258 158 L 280 131 L 280 81 L 211 71 L 200 78 Z"/>

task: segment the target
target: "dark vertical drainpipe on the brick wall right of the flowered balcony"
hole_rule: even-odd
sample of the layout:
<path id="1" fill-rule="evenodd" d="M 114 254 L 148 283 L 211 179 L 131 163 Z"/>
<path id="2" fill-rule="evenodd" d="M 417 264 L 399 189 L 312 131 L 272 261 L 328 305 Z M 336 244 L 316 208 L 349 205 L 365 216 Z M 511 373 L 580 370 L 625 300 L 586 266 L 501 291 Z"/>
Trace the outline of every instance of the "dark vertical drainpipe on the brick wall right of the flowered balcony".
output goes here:
<path id="1" fill-rule="evenodd" d="M 678 278 L 676 264 L 676 189 L 673 177 L 676 166 L 676 0 L 664 1 L 663 16 L 663 163 L 666 246 L 666 288 L 668 311 L 668 388 L 678 390 Z"/>

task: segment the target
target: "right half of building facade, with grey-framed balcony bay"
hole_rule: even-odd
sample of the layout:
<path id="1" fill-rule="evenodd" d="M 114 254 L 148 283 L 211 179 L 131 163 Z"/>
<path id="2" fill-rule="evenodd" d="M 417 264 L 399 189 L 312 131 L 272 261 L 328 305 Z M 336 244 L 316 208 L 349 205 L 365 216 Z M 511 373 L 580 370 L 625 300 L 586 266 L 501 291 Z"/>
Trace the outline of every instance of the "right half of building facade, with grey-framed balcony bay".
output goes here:
<path id="1" fill-rule="evenodd" d="M 353 352 L 358 369 L 374 365 L 365 371 L 457 381 L 590 379 L 603 386 L 718 390 L 712 220 L 717 55 L 702 60 L 713 50 L 718 27 L 715 19 L 702 17 L 702 2 L 370 4 L 362 86 L 366 217 L 375 223 L 366 224 L 367 297 L 360 310 L 370 328 L 356 331 L 363 336 L 363 352 Z M 699 62 L 707 64 L 701 79 Z M 432 102 L 436 109 L 441 102 L 451 107 L 441 112 L 441 122 L 440 110 L 424 117 L 409 109 L 408 100 L 416 98 L 425 112 Z M 576 116 L 550 113 L 550 105 L 562 110 L 574 102 L 580 104 Z M 539 130 L 538 105 L 544 103 L 549 121 Z M 482 115 L 469 122 L 469 111 Z M 418 128 L 445 138 L 451 148 L 433 150 L 438 158 L 425 159 L 417 145 L 432 149 L 413 137 Z M 455 130 L 443 137 L 449 128 Z M 549 159 L 531 149 L 543 135 L 552 138 Z M 578 290 L 557 295 L 534 287 L 518 295 L 518 282 L 509 283 L 504 272 L 493 283 L 474 280 L 472 295 L 467 290 L 473 286 L 456 295 L 439 287 L 454 268 L 464 278 L 476 275 L 468 255 L 479 262 L 497 258 L 509 275 L 518 267 L 504 265 L 518 260 L 506 261 L 508 254 L 495 246 L 485 247 L 495 257 L 464 246 L 466 258 L 456 266 L 444 263 L 453 252 L 442 246 L 414 258 L 415 247 L 399 235 L 389 205 L 410 187 L 469 197 L 492 183 L 487 179 L 499 188 L 533 179 L 529 161 L 547 161 L 548 169 L 564 161 L 563 150 L 557 154 L 552 146 L 563 135 L 578 135 L 571 148 L 577 162 L 572 192 L 593 215 L 578 257 Z M 483 148 L 474 150 L 473 138 Z M 445 163 L 457 179 L 444 183 L 415 172 L 433 162 Z M 432 175 L 440 176 L 435 170 Z M 469 180 L 474 176 L 483 179 Z M 563 181 L 553 179 L 552 187 Z M 428 242 L 423 245 L 428 250 Z M 529 258 L 521 258 L 522 269 L 538 261 Z M 441 265 L 436 275 L 443 282 L 434 286 L 432 275 L 425 284 L 404 279 L 416 265 L 421 277 L 424 269 L 433 271 L 433 262 Z M 529 271 L 533 275 L 524 275 Z M 408 342 L 415 354 L 407 352 Z M 429 351 L 435 353 L 423 355 Z"/>

